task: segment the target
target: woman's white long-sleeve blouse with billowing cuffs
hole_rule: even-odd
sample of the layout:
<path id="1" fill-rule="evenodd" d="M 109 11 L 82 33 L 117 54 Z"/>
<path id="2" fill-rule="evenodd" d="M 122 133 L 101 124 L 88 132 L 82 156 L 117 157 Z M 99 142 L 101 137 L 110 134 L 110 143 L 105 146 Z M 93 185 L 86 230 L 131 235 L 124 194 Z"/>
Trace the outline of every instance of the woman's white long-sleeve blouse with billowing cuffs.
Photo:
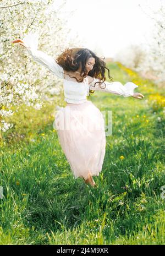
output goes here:
<path id="1" fill-rule="evenodd" d="M 87 101 L 86 96 L 89 95 L 89 90 L 111 92 L 112 94 L 128 97 L 133 96 L 134 89 L 138 87 L 138 85 L 132 82 L 123 85 L 119 81 L 105 81 L 106 87 L 104 84 L 101 84 L 100 88 L 98 83 L 95 85 L 100 79 L 94 78 L 92 82 L 89 82 L 89 76 L 87 76 L 83 82 L 78 83 L 75 79 L 71 80 L 69 75 L 64 75 L 64 69 L 57 64 L 57 61 L 53 57 L 37 50 L 38 38 L 35 37 L 34 34 L 26 35 L 23 41 L 25 42 L 27 52 L 29 52 L 35 62 L 46 67 L 52 74 L 56 75 L 56 77 L 63 79 L 64 100 L 68 103 L 80 104 Z"/>

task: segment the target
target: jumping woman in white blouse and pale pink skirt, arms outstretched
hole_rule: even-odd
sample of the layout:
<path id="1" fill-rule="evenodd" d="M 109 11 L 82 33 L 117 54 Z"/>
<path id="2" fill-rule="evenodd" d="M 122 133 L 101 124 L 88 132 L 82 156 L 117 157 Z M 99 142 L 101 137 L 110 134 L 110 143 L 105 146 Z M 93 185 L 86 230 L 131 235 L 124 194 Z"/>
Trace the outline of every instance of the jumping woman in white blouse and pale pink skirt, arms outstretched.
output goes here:
<path id="1" fill-rule="evenodd" d="M 117 81 L 105 81 L 106 69 L 112 80 L 106 63 L 87 48 L 67 49 L 54 59 L 37 50 L 38 39 L 35 35 L 29 34 L 23 40 L 17 39 L 13 43 L 24 46 L 35 62 L 63 79 L 67 105 L 59 107 L 53 127 L 57 129 L 74 178 L 82 177 L 86 184 L 95 187 L 92 176 L 99 175 L 105 157 L 105 122 L 101 111 L 86 96 L 95 90 L 136 99 L 142 99 L 144 95 L 134 92 L 138 87 L 134 83 L 129 82 L 123 86 Z"/>

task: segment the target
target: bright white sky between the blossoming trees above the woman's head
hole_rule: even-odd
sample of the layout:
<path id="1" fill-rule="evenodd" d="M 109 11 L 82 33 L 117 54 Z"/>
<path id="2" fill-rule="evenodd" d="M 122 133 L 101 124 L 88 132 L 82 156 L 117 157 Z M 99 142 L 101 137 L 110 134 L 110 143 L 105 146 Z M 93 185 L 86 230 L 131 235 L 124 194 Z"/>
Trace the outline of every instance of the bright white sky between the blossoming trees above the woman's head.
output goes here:
<path id="1" fill-rule="evenodd" d="M 78 34 L 83 42 L 78 47 L 114 57 L 125 46 L 147 44 L 152 30 L 148 9 L 156 10 L 162 2 L 165 0 L 69 0 L 62 15 L 68 17 L 70 36 Z M 56 7 L 60 3 L 54 2 Z"/>

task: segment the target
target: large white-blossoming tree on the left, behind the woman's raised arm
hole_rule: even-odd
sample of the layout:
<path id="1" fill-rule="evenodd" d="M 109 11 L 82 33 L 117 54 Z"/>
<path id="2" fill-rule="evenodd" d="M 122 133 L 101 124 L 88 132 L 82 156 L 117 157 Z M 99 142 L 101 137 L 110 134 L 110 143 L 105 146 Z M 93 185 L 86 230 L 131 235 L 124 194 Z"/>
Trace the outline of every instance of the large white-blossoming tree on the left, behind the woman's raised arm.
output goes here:
<path id="1" fill-rule="evenodd" d="M 62 89 L 61 81 L 32 61 L 24 47 L 12 44 L 13 40 L 37 31 L 40 35 L 38 50 L 54 59 L 65 48 L 77 46 L 78 39 L 66 36 L 67 20 L 58 17 L 66 1 L 52 9 L 53 2 L 5 0 L 0 3 L 0 130 L 3 132 L 13 126 L 5 121 L 13 115 L 13 105 L 19 107 L 24 103 L 40 109 L 43 100 L 52 99 Z"/>

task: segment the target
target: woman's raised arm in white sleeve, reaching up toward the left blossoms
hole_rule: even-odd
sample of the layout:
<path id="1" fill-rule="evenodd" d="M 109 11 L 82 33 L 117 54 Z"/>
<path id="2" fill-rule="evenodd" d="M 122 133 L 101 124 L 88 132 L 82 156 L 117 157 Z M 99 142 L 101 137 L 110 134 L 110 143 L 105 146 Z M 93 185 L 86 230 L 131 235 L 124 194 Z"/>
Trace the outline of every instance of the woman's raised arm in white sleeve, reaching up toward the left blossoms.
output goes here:
<path id="1" fill-rule="evenodd" d="M 47 55 L 42 51 L 38 51 L 37 44 L 34 44 L 34 47 L 32 47 L 32 45 L 30 45 L 28 41 L 26 42 L 25 40 L 23 41 L 21 39 L 14 40 L 13 43 L 19 43 L 19 45 L 25 47 L 27 52 L 29 52 L 35 62 L 40 63 L 42 66 L 46 67 L 48 70 L 50 70 L 52 74 L 56 75 L 58 78 L 64 78 L 63 68 L 56 63 L 56 60 L 53 57 Z"/>

